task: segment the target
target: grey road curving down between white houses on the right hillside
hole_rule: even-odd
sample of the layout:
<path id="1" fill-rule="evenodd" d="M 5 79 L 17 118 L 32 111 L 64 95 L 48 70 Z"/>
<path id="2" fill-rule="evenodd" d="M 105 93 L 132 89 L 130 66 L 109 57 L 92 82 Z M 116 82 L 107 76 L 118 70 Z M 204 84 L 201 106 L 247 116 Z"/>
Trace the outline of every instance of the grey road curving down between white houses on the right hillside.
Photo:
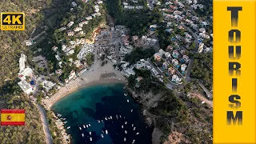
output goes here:
<path id="1" fill-rule="evenodd" d="M 188 30 L 190 32 L 190 34 L 192 34 L 192 36 L 194 38 L 194 46 L 195 46 L 195 49 L 193 50 L 193 53 L 196 53 L 197 48 L 198 48 L 198 36 L 196 34 L 194 34 L 194 32 L 190 29 L 190 27 L 187 27 L 185 25 L 182 25 L 182 26 L 185 27 L 186 30 Z M 191 73 L 193 62 L 194 62 L 194 58 L 190 58 L 189 66 L 187 66 L 187 69 L 186 69 L 185 82 L 190 81 L 190 73 Z"/>

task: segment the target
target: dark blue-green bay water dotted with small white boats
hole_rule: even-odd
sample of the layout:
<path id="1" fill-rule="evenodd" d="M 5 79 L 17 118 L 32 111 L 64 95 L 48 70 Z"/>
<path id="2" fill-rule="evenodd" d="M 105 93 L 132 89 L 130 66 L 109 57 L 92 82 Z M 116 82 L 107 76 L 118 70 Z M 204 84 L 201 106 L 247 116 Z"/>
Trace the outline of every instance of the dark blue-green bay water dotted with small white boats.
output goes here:
<path id="1" fill-rule="evenodd" d="M 126 144 L 133 140 L 138 144 L 151 143 L 153 129 L 144 122 L 141 106 L 130 95 L 124 96 L 127 92 L 123 90 L 123 86 L 124 84 L 119 83 L 89 86 L 62 98 L 52 106 L 55 114 L 62 114 L 62 118 L 66 118 L 65 127 L 70 126 L 66 132 L 71 135 L 72 143 Z M 109 119 L 110 116 L 112 119 Z M 101 122 L 98 123 L 98 120 Z M 89 128 L 83 128 L 82 125 L 89 123 Z M 136 127 L 135 130 L 132 124 Z M 82 130 L 79 130 L 79 126 Z M 107 130 L 108 134 L 102 133 L 102 130 Z"/>

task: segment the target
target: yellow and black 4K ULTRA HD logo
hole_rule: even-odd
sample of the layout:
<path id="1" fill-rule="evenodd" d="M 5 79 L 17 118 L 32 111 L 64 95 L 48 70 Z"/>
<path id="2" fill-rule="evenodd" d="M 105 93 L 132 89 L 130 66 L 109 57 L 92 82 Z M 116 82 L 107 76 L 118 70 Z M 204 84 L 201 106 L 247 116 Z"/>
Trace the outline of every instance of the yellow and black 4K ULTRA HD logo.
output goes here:
<path id="1" fill-rule="evenodd" d="M 1 13 L 1 30 L 25 30 L 25 14 Z"/>

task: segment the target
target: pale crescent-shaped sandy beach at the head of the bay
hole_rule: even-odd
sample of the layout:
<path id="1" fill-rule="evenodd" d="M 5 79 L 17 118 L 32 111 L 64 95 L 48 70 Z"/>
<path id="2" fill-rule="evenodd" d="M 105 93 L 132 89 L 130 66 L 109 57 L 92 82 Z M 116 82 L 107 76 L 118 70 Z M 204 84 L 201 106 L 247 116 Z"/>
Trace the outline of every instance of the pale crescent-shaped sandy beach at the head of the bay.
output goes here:
<path id="1" fill-rule="evenodd" d="M 82 74 L 78 78 L 74 78 L 70 82 L 62 86 L 58 92 L 52 95 L 50 98 L 42 100 L 46 110 L 50 110 L 50 107 L 57 102 L 60 98 L 74 92 L 75 90 L 84 88 L 86 86 L 92 86 L 103 83 L 126 83 L 126 78 L 118 71 L 114 70 L 110 62 L 101 66 L 102 61 L 98 60 L 85 74 Z"/>

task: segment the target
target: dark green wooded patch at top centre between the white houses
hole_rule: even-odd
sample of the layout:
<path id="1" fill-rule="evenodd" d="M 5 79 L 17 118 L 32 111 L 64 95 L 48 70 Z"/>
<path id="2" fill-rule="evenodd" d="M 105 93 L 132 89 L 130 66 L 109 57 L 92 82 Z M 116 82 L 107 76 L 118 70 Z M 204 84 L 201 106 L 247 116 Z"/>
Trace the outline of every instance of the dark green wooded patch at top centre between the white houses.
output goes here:
<path id="1" fill-rule="evenodd" d="M 162 13 L 158 6 L 150 10 L 146 6 L 146 0 L 139 0 L 144 4 L 142 10 L 124 10 L 121 0 L 107 0 L 108 13 L 115 18 L 116 25 L 124 25 L 130 29 L 131 35 L 142 36 L 147 33 L 149 26 L 162 21 Z"/>

